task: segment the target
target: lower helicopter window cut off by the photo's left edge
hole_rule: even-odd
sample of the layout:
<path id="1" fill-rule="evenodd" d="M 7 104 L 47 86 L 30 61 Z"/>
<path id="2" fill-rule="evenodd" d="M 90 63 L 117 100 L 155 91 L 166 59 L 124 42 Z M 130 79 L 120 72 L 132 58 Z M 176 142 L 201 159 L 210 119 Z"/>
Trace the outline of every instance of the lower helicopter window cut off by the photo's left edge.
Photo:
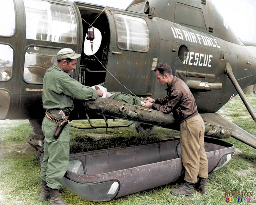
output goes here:
<path id="1" fill-rule="evenodd" d="M 13 49 L 0 44 L 0 81 L 7 81 L 12 76 L 13 70 Z"/>

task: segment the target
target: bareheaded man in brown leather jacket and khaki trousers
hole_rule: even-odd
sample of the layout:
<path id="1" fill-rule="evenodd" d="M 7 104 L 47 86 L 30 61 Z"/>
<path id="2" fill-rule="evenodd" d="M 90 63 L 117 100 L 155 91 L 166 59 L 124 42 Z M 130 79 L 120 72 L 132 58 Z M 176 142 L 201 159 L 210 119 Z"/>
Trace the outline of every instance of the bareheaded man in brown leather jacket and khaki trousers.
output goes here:
<path id="1" fill-rule="evenodd" d="M 155 74 L 159 83 L 167 85 L 167 96 L 158 99 L 147 97 L 142 106 L 163 113 L 173 112 L 175 120 L 180 123 L 185 182 L 170 192 L 177 196 L 191 195 L 195 188 L 202 194 L 207 194 L 208 161 L 203 147 L 205 125 L 197 112 L 194 96 L 186 83 L 173 76 L 171 67 L 166 63 L 158 65 Z"/>

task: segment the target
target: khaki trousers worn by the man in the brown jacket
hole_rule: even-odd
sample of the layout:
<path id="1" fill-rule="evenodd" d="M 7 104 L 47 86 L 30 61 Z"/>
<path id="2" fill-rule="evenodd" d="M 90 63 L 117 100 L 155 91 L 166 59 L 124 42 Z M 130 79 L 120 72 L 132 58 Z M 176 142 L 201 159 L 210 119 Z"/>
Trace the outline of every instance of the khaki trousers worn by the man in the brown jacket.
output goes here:
<path id="1" fill-rule="evenodd" d="M 181 159 L 185 167 L 185 181 L 195 183 L 197 175 L 208 177 L 208 160 L 204 145 L 205 124 L 200 114 L 181 122 Z"/>

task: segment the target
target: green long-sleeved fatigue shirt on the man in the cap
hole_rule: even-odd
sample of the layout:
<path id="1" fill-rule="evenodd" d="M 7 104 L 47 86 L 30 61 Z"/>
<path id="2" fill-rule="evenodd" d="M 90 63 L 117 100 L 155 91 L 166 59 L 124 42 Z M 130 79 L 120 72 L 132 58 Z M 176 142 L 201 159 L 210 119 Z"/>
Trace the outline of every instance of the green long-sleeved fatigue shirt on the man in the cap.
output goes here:
<path id="1" fill-rule="evenodd" d="M 98 91 L 84 86 L 54 63 L 43 78 L 43 108 L 72 111 L 73 98 L 95 100 Z"/>

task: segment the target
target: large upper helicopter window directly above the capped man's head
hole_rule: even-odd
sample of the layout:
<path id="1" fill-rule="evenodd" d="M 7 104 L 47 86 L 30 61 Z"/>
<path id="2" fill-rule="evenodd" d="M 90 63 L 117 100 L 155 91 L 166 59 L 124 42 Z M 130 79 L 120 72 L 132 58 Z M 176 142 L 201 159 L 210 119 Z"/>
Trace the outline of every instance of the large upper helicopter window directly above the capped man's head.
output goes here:
<path id="1" fill-rule="evenodd" d="M 24 0 L 26 38 L 76 44 L 77 22 L 71 6 Z"/>

